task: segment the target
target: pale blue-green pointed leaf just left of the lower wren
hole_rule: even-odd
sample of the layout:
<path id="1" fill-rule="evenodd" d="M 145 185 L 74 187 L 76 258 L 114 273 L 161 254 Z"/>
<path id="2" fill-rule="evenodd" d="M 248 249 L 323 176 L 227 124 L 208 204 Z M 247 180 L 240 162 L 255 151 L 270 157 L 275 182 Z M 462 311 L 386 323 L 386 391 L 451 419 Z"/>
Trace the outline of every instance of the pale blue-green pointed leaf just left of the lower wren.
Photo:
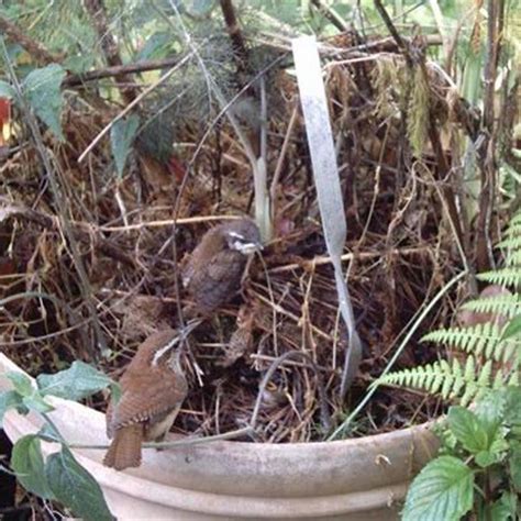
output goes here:
<path id="1" fill-rule="evenodd" d="M 65 370 L 36 378 L 42 395 L 53 395 L 69 400 L 81 400 L 114 384 L 107 375 L 84 362 L 76 361 Z"/>

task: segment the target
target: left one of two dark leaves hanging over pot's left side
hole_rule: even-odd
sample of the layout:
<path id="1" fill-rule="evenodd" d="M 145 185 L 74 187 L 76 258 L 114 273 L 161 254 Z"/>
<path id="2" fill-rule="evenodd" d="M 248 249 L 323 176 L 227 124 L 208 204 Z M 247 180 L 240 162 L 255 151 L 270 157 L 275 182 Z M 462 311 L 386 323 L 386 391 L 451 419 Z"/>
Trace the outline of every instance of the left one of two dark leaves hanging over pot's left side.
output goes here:
<path id="1" fill-rule="evenodd" d="M 27 434 L 14 444 L 11 466 L 26 490 L 44 499 L 53 498 L 45 477 L 41 442 L 35 434 Z"/>

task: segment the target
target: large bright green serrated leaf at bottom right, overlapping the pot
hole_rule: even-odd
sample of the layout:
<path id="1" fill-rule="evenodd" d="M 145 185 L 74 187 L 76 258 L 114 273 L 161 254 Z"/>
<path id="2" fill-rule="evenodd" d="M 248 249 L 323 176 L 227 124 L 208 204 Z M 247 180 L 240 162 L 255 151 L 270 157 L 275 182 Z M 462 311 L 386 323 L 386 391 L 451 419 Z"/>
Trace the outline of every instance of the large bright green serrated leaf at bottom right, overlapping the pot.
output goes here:
<path id="1" fill-rule="evenodd" d="M 474 500 L 474 474 L 454 456 L 430 462 L 407 492 L 403 521 L 456 521 Z"/>

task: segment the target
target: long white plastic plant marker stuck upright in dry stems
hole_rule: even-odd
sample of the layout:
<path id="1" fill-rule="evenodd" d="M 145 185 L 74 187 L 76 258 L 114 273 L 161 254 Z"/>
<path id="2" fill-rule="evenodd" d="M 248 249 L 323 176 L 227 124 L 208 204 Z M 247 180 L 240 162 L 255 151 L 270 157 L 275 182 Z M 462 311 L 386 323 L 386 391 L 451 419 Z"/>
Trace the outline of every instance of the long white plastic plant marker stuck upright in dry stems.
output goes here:
<path id="1" fill-rule="evenodd" d="M 314 36 L 301 36 L 292 40 L 291 45 L 322 218 L 322 229 L 328 253 L 334 267 L 339 306 L 348 334 L 350 345 L 341 385 L 341 395 L 344 396 L 358 370 L 362 358 L 362 344 L 356 332 L 353 306 L 344 281 L 341 263 L 347 233 L 344 201 L 342 199 L 317 40 Z"/>

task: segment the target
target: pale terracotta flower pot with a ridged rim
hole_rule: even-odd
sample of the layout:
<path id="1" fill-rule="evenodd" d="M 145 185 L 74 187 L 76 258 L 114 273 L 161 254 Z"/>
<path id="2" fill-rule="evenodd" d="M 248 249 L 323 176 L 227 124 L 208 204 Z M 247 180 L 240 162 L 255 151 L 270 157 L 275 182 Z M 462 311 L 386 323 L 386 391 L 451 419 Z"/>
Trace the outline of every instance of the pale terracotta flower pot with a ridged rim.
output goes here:
<path id="1" fill-rule="evenodd" d="M 21 370 L 0 355 L 5 372 Z M 106 444 L 104 415 L 54 399 L 51 413 L 70 443 Z M 36 432 L 37 415 L 9 411 L 3 428 L 15 442 Z M 429 425 L 330 443 L 213 442 L 157 452 L 144 450 L 140 468 L 115 472 L 103 451 L 75 450 L 96 477 L 119 520 L 125 519 L 398 519 L 414 474 L 436 452 Z M 44 443 L 45 454 L 56 450 Z"/>

